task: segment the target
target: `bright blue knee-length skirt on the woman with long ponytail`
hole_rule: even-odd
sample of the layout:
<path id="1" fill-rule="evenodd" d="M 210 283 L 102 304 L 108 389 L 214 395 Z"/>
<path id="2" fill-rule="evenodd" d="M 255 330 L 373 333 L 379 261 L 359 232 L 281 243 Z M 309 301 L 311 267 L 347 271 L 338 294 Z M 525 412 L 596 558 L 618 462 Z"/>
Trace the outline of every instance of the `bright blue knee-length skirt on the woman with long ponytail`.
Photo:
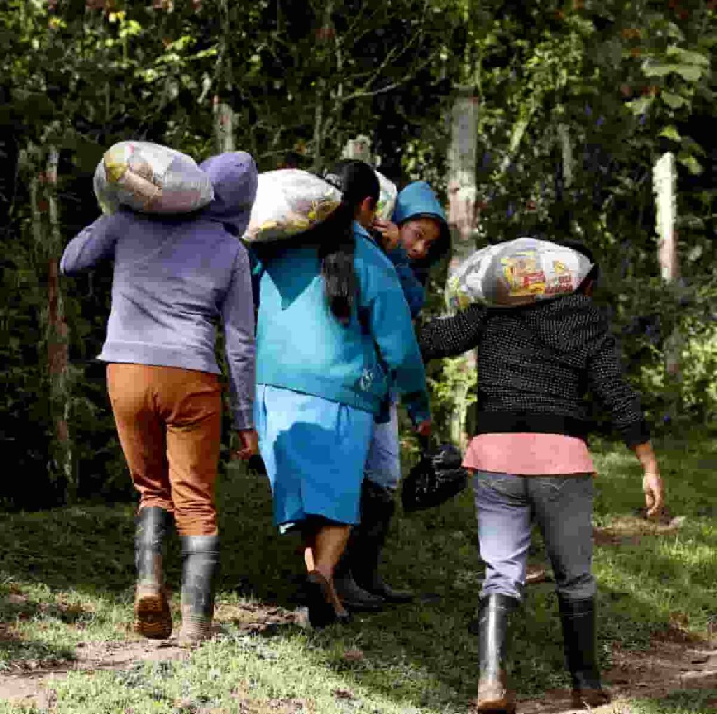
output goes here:
<path id="1" fill-rule="evenodd" d="M 254 415 L 276 525 L 287 530 L 307 516 L 358 523 L 374 415 L 261 384 Z"/>

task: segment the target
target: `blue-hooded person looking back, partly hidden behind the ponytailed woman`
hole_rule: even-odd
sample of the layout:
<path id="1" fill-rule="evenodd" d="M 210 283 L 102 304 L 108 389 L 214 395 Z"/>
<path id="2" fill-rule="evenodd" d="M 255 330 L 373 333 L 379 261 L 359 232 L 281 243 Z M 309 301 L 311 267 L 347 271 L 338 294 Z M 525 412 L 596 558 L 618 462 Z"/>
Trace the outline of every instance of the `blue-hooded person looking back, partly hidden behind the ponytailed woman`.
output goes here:
<path id="1" fill-rule="evenodd" d="M 374 219 L 369 227 L 391 260 L 416 319 L 425 302 L 429 270 L 450 250 L 450 231 L 440 202 L 429 184 L 413 182 L 398 194 L 393 221 Z M 361 492 L 361 523 L 353 529 L 336 572 L 339 596 L 356 611 L 378 611 L 384 603 L 413 599 L 413 593 L 394 590 L 379 573 L 401 479 L 396 393 L 390 395 L 387 412 L 374 423 Z"/>

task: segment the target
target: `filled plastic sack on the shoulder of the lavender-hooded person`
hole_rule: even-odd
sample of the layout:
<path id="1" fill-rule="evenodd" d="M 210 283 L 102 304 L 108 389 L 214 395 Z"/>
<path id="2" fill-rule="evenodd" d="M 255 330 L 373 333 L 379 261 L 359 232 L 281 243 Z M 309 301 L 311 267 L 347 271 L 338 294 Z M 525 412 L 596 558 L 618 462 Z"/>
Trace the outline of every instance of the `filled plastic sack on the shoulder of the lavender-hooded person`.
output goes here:
<path id="1" fill-rule="evenodd" d="M 120 141 L 95 170 L 95 196 L 105 213 L 123 205 L 168 215 L 203 208 L 214 189 L 190 156 L 148 141 Z"/>

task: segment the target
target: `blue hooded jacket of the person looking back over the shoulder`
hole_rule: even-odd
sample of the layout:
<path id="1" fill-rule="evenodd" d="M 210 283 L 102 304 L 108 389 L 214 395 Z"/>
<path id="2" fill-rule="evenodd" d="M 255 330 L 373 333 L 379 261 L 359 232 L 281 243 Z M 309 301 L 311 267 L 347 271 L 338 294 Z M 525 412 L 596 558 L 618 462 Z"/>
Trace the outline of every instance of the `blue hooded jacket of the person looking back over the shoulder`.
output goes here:
<path id="1" fill-rule="evenodd" d="M 448 238 L 448 222 L 443 207 L 440 205 L 433 189 L 424 181 L 414 181 L 408 184 L 396 199 L 393 221 L 402 225 L 407 220 L 421 216 L 430 216 L 438 220 L 441 226 L 442 240 Z M 387 253 L 398 273 L 404 297 L 408 303 L 412 317 L 417 317 L 426 301 L 427 269 L 419 270 L 412 264 L 404 248 L 398 248 Z M 428 266 L 424 266 L 427 268 Z"/>

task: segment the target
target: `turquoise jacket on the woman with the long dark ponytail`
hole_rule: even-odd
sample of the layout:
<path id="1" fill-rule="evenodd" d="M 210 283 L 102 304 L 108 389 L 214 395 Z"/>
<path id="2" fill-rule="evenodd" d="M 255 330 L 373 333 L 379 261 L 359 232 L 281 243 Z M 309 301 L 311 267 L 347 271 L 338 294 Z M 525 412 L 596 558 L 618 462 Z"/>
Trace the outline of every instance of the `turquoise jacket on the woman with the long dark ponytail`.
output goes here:
<path id="1" fill-rule="evenodd" d="M 430 417 L 426 378 L 391 262 L 354 224 L 359 299 L 343 327 L 328 309 L 316 248 L 293 246 L 262 263 L 257 384 L 284 387 L 381 414 L 389 388 L 406 395 L 414 423 Z"/>

